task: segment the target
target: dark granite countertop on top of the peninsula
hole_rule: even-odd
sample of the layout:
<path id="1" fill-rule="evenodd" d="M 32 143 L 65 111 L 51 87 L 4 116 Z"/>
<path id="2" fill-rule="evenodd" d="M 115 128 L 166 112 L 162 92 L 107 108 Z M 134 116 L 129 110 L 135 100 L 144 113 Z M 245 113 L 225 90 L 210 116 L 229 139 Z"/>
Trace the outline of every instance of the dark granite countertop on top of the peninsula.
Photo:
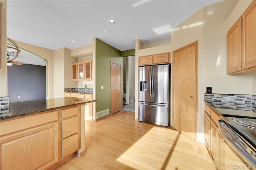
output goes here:
<path id="1" fill-rule="evenodd" d="M 35 101 L 24 101 L 9 104 L 9 115 L 0 117 L 1 120 L 14 117 L 21 117 L 35 113 L 52 111 L 64 107 L 95 102 L 95 99 L 81 99 L 76 97 L 60 97 L 54 99 L 44 99 Z"/>

